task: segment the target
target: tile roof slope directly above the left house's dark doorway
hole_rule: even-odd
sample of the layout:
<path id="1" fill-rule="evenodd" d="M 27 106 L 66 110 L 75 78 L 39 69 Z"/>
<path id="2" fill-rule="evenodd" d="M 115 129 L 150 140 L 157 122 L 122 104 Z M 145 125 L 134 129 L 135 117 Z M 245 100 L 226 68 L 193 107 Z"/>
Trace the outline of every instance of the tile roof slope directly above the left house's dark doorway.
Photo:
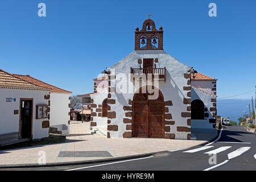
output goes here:
<path id="1" fill-rule="evenodd" d="M 16 77 L 11 73 L 7 73 L 2 69 L 0 69 L 0 87 L 49 90 L 44 86 L 35 85 L 35 84 L 32 84 L 31 82 L 20 79 L 19 77 Z"/>

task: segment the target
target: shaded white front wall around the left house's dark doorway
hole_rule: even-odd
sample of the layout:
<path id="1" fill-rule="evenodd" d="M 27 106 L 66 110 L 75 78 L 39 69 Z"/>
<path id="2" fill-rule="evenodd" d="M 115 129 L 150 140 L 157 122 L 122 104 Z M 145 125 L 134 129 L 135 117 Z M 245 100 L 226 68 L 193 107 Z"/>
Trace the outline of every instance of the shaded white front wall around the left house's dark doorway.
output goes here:
<path id="1" fill-rule="evenodd" d="M 0 89 L 0 134 L 19 132 L 20 98 L 33 98 L 33 139 L 48 137 L 49 129 L 42 128 L 42 122 L 47 119 L 36 119 L 36 105 L 48 105 L 48 100 L 44 99 L 47 94 L 46 90 Z M 16 102 L 6 102 L 7 97 L 16 98 Z M 14 110 L 19 110 L 19 114 L 14 114 Z"/>

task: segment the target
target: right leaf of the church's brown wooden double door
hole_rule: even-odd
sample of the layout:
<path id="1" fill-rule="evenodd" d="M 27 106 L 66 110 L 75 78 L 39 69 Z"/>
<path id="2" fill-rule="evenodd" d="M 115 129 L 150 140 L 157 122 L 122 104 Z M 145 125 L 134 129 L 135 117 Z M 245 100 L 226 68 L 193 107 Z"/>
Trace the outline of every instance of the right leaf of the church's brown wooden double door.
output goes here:
<path id="1" fill-rule="evenodd" d="M 163 101 L 148 101 L 149 106 L 149 137 L 163 138 L 164 137 L 164 102 Z"/>

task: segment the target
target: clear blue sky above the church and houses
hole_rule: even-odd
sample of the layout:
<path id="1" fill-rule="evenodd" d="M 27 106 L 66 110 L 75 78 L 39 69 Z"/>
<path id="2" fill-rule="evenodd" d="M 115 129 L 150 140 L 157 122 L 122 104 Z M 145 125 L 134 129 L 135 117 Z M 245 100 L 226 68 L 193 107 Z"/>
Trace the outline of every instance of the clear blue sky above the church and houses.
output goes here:
<path id="1" fill-rule="evenodd" d="M 38 16 L 46 3 L 47 16 Z M 210 2 L 217 17 L 208 16 Z M 163 26 L 164 51 L 218 78 L 219 98 L 254 96 L 256 1 L 0 2 L 0 69 L 26 74 L 74 94 L 134 50 L 134 31 L 150 13 Z M 254 96 L 255 97 L 255 96 Z"/>

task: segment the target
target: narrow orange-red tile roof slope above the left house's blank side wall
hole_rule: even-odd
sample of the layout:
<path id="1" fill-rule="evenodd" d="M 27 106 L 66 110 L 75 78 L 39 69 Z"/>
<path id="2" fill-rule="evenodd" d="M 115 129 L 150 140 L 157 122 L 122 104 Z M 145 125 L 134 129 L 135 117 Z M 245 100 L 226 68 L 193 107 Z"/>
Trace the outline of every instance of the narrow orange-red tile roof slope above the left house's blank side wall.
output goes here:
<path id="1" fill-rule="evenodd" d="M 56 86 L 47 84 L 46 82 L 37 80 L 36 78 L 33 78 L 29 75 L 17 75 L 17 74 L 13 74 L 13 75 L 22 79 L 22 80 L 24 80 L 24 81 L 30 82 L 31 84 L 38 85 L 38 86 L 43 86 L 44 88 L 51 89 L 52 93 L 72 93 L 72 92 L 69 92 L 67 90 L 57 88 Z"/>

